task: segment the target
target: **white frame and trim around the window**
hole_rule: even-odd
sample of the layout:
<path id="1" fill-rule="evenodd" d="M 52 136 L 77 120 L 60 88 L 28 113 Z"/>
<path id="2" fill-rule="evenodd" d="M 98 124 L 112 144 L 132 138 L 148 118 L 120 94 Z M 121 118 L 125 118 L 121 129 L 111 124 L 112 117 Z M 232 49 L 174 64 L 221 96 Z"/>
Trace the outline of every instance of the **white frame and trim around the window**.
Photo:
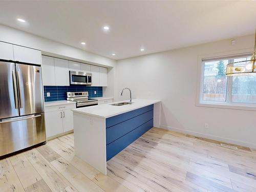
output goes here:
<path id="1" fill-rule="evenodd" d="M 248 110 L 256 111 L 256 103 L 242 103 L 242 102 L 231 102 L 231 89 L 232 89 L 232 77 L 227 78 L 227 94 L 225 102 L 218 101 L 203 101 L 203 83 L 204 83 L 204 59 L 209 59 L 211 61 L 220 60 L 220 59 L 229 59 L 230 63 L 234 57 L 239 57 L 241 55 L 250 55 L 251 50 L 238 50 L 225 53 L 209 54 L 209 55 L 200 55 L 198 56 L 198 79 L 197 79 L 197 106 L 209 107 L 209 108 L 224 108 L 224 109 L 235 109 L 235 110 Z"/>

